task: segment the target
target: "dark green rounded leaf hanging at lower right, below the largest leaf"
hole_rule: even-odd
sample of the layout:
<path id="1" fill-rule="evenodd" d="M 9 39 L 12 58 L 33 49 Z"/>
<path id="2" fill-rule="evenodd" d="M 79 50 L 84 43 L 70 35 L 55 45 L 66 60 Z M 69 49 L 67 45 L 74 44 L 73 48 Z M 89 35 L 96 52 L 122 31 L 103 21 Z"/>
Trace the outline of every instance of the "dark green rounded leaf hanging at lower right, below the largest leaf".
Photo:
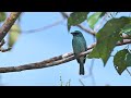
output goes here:
<path id="1" fill-rule="evenodd" d="M 120 50 L 115 54 L 114 64 L 120 75 L 128 66 L 131 65 L 131 53 L 128 49 Z"/>

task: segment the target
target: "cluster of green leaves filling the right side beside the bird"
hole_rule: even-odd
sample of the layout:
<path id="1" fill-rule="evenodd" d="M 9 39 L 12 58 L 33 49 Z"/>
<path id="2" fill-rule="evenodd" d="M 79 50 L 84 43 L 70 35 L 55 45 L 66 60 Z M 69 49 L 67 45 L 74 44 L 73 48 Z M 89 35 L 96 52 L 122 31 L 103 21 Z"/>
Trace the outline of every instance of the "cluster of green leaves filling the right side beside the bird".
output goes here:
<path id="1" fill-rule="evenodd" d="M 79 14 L 78 16 L 73 17 L 73 14 Z M 68 19 L 68 26 L 74 26 L 81 24 L 82 22 L 86 21 L 88 26 L 94 29 L 95 25 L 98 23 L 99 20 L 107 15 L 107 12 L 95 12 L 92 15 L 88 13 L 83 12 L 81 13 L 73 12 L 70 17 Z M 121 16 L 116 17 L 118 12 L 110 12 L 108 14 L 109 20 L 105 25 L 99 28 L 96 34 L 96 46 L 94 47 L 93 51 L 87 56 L 88 59 L 102 59 L 104 65 L 106 65 L 108 59 L 110 58 L 111 52 L 116 48 L 116 44 L 118 41 L 122 41 L 123 38 L 121 37 L 122 34 L 131 35 L 131 17 Z M 81 20 L 83 16 L 87 19 Z M 86 16 L 85 16 L 86 15 Z M 70 21 L 70 19 L 72 19 Z M 81 20 L 80 22 L 74 22 L 75 20 Z M 69 29 L 70 30 L 70 29 Z M 121 75 L 121 73 L 128 68 L 131 66 L 131 52 L 130 49 L 122 49 L 119 50 L 114 57 L 114 65 L 116 71 Z"/>

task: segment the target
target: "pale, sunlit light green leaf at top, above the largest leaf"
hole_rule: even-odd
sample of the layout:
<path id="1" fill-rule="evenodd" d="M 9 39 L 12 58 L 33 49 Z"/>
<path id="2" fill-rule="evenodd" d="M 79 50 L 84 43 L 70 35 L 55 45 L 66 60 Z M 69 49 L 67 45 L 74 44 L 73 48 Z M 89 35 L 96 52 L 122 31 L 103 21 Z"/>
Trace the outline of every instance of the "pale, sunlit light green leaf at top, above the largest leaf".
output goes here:
<path id="1" fill-rule="evenodd" d="M 104 13 L 103 12 L 96 12 L 87 19 L 87 23 L 88 23 L 91 28 L 94 28 L 95 24 L 98 22 L 100 16 L 104 15 Z"/>

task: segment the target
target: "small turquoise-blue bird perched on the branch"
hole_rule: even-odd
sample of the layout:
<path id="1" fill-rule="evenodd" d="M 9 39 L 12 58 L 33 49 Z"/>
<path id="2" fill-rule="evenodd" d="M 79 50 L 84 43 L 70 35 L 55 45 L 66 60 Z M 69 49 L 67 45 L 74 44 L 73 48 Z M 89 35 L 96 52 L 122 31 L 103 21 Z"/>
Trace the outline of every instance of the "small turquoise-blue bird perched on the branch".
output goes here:
<path id="1" fill-rule="evenodd" d="M 79 53 L 87 50 L 86 40 L 83 34 L 79 30 L 72 32 L 71 34 L 73 35 L 73 39 L 72 39 L 73 52 L 74 56 L 76 57 Z M 76 58 L 76 61 L 80 63 L 80 75 L 84 75 L 85 60 L 86 60 L 86 56 Z"/>

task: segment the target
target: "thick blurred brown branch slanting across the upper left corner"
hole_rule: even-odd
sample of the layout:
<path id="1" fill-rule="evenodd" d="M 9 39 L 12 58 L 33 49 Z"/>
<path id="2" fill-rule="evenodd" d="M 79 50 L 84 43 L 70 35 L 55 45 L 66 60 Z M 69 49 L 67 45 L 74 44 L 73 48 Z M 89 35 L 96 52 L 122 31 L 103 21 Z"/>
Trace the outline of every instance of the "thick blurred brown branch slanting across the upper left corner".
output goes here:
<path id="1" fill-rule="evenodd" d="M 21 12 L 11 12 L 9 17 L 4 21 L 2 27 L 0 28 L 0 42 L 5 37 L 16 19 L 20 16 Z"/>

